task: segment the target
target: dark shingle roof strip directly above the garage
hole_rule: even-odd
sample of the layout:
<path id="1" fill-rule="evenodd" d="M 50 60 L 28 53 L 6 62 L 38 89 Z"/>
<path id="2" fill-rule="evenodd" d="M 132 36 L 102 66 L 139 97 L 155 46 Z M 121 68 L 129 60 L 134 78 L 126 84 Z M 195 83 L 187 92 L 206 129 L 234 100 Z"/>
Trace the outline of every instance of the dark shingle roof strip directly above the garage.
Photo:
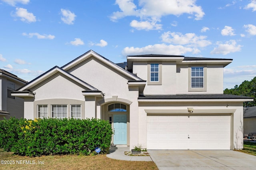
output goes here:
<path id="1" fill-rule="evenodd" d="M 232 94 L 177 94 L 177 95 L 140 95 L 138 99 L 253 99 Z"/>

